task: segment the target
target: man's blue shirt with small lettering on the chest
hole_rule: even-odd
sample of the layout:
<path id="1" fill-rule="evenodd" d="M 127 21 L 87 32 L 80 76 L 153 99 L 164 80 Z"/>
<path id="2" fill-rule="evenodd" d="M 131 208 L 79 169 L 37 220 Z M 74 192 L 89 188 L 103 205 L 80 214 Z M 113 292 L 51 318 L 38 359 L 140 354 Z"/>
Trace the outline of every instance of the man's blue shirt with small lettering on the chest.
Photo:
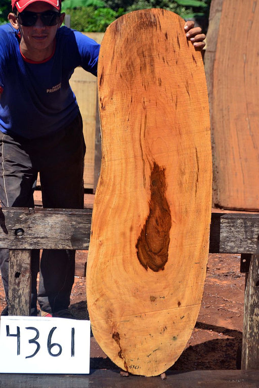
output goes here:
<path id="1" fill-rule="evenodd" d="M 41 137 L 68 125 L 78 114 L 69 79 L 77 66 L 97 74 L 100 45 L 78 31 L 61 27 L 53 55 L 26 60 L 11 24 L 0 26 L 0 130 Z"/>

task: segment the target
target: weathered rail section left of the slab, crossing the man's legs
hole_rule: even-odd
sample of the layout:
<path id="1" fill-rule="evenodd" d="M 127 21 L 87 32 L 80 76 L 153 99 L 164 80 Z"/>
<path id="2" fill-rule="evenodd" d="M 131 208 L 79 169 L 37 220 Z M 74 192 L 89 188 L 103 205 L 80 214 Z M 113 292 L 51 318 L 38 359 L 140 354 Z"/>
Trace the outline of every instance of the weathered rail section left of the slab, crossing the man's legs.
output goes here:
<path id="1" fill-rule="evenodd" d="M 91 218 L 92 209 L 2 208 L 0 248 L 87 250 Z"/>

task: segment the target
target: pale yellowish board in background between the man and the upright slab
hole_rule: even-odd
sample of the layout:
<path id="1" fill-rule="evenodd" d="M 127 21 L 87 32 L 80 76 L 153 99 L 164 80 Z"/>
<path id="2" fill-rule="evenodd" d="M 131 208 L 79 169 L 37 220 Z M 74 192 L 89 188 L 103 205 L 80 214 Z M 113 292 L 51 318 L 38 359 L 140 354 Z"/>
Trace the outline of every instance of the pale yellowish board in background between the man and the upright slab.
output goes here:
<path id="1" fill-rule="evenodd" d="M 83 32 L 98 43 L 101 43 L 103 32 Z M 84 158 L 84 187 L 94 188 L 95 172 L 95 133 L 96 133 L 96 97 L 97 97 L 97 79 L 96 77 L 77 67 L 69 81 L 71 88 L 76 96 L 82 121 L 83 136 L 87 146 Z"/>

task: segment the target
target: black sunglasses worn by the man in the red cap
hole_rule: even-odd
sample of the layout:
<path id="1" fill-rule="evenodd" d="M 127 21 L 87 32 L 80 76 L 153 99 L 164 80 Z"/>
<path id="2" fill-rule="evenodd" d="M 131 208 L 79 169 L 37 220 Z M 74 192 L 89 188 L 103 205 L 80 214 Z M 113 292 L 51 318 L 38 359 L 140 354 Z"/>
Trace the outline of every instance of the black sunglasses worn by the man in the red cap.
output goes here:
<path id="1" fill-rule="evenodd" d="M 36 24 L 38 17 L 45 26 L 56 26 L 59 23 L 60 13 L 55 11 L 31 12 L 23 11 L 18 14 L 17 19 L 24 27 L 32 27 Z"/>

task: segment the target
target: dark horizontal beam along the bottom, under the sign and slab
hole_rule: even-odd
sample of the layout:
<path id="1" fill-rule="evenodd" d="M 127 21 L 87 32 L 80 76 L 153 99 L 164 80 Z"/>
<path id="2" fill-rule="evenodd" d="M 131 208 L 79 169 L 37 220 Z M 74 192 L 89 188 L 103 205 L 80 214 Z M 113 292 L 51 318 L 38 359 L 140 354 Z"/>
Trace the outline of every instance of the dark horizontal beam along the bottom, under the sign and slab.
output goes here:
<path id="1" fill-rule="evenodd" d="M 118 371 L 99 369 L 89 375 L 0 374 L 0 387 L 15 388 L 258 388 L 259 371 L 250 370 L 195 370 L 184 373 L 168 373 L 160 376 L 120 376 Z"/>

